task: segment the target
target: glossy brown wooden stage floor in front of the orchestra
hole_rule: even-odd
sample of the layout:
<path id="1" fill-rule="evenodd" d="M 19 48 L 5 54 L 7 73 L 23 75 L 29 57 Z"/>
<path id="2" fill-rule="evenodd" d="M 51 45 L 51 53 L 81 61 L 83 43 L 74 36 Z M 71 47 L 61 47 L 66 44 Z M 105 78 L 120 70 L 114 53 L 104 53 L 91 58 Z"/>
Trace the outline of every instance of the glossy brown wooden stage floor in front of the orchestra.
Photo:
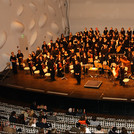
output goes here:
<path id="1" fill-rule="evenodd" d="M 134 80 L 132 79 L 123 87 L 119 85 L 119 81 L 115 81 L 116 84 L 113 84 L 110 78 L 104 77 L 105 75 L 92 78 L 88 74 L 85 78 L 82 75 L 81 85 L 76 85 L 76 79 L 72 74 L 65 74 L 65 76 L 67 80 L 56 77 L 56 81 L 50 81 L 49 77 L 38 78 L 38 76 L 31 76 L 26 74 L 25 71 L 19 70 L 17 75 L 11 75 L 9 78 L 6 78 L 1 82 L 1 85 L 72 98 L 134 101 Z M 102 84 L 98 89 L 84 88 L 88 80 L 102 81 Z"/>

